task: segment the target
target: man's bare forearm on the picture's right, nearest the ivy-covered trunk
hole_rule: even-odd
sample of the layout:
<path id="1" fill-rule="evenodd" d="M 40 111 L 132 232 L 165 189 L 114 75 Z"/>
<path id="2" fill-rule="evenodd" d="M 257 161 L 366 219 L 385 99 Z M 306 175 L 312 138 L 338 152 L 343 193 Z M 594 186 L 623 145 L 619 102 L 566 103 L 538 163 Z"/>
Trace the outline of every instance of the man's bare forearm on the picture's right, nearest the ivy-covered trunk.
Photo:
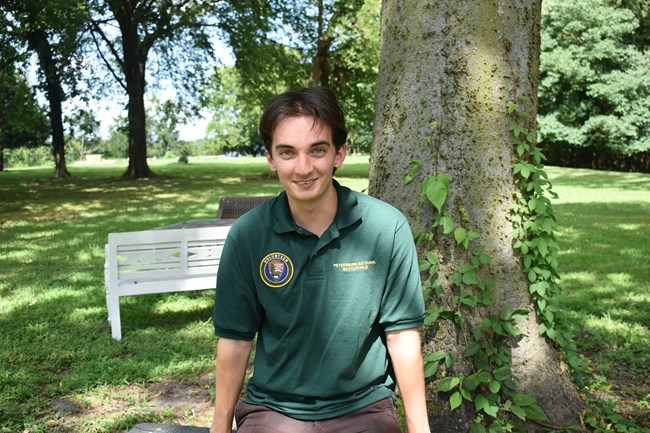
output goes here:
<path id="1" fill-rule="evenodd" d="M 408 432 L 429 433 L 420 333 L 415 328 L 389 331 L 386 343 L 404 403 Z"/>

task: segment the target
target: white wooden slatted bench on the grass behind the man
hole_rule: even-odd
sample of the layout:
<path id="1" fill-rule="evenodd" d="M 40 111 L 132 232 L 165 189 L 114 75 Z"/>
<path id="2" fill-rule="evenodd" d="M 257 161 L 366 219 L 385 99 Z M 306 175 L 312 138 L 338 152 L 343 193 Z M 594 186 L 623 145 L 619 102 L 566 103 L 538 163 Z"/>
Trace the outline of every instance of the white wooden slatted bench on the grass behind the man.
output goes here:
<path id="1" fill-rule="evenodd" d="M 122 296 L 214 289 L 229 230 L 225 225 L 110 233 L 104 279 L 113 338 L 122 339 Z"/>

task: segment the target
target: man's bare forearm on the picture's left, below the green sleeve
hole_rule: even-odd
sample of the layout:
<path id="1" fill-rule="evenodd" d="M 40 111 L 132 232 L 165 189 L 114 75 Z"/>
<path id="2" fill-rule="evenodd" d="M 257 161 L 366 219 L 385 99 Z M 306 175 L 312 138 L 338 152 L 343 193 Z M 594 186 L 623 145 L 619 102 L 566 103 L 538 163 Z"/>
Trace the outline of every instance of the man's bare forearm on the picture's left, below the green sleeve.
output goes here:
<path id="1" fill-rule="evenodd" d="M 252 341 L 219 338 L 215 377 L 214 418 L 210 433 L 230 433 Z"/>

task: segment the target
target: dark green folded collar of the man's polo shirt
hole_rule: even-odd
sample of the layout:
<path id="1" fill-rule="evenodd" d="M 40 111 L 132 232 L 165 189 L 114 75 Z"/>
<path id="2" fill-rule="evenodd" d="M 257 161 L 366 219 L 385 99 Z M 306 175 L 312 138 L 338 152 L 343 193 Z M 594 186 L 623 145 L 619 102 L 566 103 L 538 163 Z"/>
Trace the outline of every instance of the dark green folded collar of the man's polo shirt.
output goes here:
<path id="1" fill-rule="evenodd" d="M 341 186 L 336 180 L 332 180 L 338 199 L 338 208 L 334 217 L 334 224 L 340 231 L 351 226 L 361 219 L 361 213 L 357 208 L 357 198 L 352 194 L 350 188 Z M 296 231 L 296 223 L 293 221 L 289 209 L 287 193 L 283 191 L 273 204 L 272 212 L 275 215 L 274 230 L 277 233 Z"/>

